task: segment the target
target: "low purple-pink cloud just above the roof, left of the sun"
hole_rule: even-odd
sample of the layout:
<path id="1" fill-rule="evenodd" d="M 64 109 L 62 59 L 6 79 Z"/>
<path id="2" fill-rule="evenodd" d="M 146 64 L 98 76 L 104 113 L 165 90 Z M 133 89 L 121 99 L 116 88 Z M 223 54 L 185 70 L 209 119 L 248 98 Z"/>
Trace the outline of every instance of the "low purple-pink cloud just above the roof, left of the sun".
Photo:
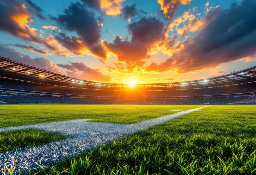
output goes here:
<path id="1" fill-rule="evenodd" d="M 72 77 L 84 80 L 111 81 L 111 77 L 103 75 L 99 69 L 92 69 L 84 63 L 75 62 L 70 64 L 57 64 L 59 67 L 66 69 L 66 73 Z"/>

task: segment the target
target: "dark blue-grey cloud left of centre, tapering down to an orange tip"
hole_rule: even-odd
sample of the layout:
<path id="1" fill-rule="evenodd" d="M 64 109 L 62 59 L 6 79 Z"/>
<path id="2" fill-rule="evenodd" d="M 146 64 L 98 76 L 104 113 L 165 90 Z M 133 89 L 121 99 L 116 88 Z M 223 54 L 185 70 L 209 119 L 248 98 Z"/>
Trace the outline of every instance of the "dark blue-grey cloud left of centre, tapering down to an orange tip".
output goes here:
<path id="1" fill-rule="evenodd" d="M 82 4 L 79 2 L 71 3 L 71 5 L 64 10 L 64 14 L 51 18 L 65 30 L 76 32 L 79 35 L 79 38 L 68 37 L 65 34 L 56 37 L 67 49 L 73 50 L 74 53 L 81 53 L 80 50 L 75 51 L 74 48 L 87 47 L 94 55 L 100 58 L 106 58 L 106 52 L 100 44 L 100 30 L 102 24 L 100 24 L 95 15 Z M 75 40 L 75 44 L 69 43 L 72 41 L 70 40 L 71 38 Z"/>

